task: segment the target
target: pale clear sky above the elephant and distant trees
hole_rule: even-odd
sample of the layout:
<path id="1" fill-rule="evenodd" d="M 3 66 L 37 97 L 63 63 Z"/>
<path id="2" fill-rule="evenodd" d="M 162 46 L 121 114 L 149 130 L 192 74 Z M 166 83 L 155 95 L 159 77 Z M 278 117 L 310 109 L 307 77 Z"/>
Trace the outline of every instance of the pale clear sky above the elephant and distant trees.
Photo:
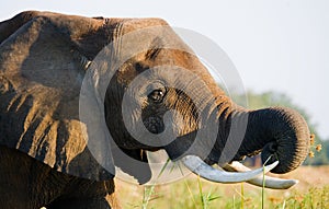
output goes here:
<path id="1" fill-rule="evenodd" d="M 246 89 L 277 91 L 307 111 L 329 139 L 329 1 L 327 0 L 11 0 L 0 21 L 24 10 L 86 16 L 161 18 L 213 39 Z"/>

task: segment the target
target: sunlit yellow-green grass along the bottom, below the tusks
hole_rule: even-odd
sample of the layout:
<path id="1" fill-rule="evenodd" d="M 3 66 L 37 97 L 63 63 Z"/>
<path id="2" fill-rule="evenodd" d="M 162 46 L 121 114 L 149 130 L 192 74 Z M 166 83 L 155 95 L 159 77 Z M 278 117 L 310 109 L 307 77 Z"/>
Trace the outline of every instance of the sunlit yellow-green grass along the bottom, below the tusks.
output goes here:
<path id="1" fill-rule="evenodd" d="M 295 189 L 265 189 L 263 200 L 262 188 L 246 189 L 247 184 L 213 184 L 198 177 L 189 177 L 170 185 L 131 187 L 134 187 L 133 190 L 137 194 L 134 197 L 131 197 L 132 188 L 128 186 L 120 189 L 118 198 L 123 208 L 249 209 L 262 208 L 263 205 L 265 209 L 329 209 L 329 185 L 311 187 L 305 193 Z"/>

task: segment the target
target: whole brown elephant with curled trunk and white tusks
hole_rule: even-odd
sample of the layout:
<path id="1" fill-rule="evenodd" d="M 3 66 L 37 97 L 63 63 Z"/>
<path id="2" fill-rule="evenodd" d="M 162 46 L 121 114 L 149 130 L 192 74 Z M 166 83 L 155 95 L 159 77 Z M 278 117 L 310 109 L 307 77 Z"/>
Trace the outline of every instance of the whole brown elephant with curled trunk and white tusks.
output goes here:
<path id="1" fill-rule="evenodd" d="M 144 184 L 148 151 L 262 186 L 263 172 L 291 172 L 309 150 L 300 114 L 235 104 L 161 19 L 25 11 L 1 22 L 0 100 L 1 208 L 121 208 L 115 166 Z M 240 163 L 257 154 L 264 169 Z"/>

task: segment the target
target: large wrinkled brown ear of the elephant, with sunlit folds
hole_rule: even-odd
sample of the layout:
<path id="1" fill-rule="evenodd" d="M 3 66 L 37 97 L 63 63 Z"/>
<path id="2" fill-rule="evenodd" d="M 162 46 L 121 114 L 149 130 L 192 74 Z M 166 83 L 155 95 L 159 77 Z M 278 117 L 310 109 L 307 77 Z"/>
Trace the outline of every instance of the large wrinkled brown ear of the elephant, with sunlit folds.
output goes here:
<path id="1" fill-rule="evenodd" d="M 102 147 L 107 152 L 101 165 L 89 149 L 88 141 L 95 141 L 86 135 L 90 127 L 79 118 L 86 69 L 111 39 L 103 22 L 27 12 L 0 23 L 0 146 L 58 172 L 97 181 L 113 177 L 111 149 Z M 107 130 L 94 127 L 103 131 L 98 136 L 104 139 L 98 140 L 106 140 Z"/>

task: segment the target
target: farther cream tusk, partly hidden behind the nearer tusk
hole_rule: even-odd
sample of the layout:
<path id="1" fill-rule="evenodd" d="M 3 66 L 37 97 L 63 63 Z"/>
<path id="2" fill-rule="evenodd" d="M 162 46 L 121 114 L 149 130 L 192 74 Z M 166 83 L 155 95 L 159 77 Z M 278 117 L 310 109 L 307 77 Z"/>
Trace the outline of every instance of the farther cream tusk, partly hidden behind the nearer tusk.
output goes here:
<path id="1" fill-rule="evenodd" d="M 230 164 L 226 164 L 224 166 L 226 171 L 232 171 L 232 172 L 248 172 L 251 171 L 249 167 L 245 166 L 242 163 L 239 163 L 237 161 L 231 162 Z M 265 176 L 265 187 L 266 188 L 275 188 L 275 189 L 286 189 L 295 184 L 298 183 L 297 179 L 281 179 L 276 177 Z M 256 178 L 247 181 L 247 183 L 256 185 L 256 186 L 263 186 L 263 176 L 258 176 Z"/>

